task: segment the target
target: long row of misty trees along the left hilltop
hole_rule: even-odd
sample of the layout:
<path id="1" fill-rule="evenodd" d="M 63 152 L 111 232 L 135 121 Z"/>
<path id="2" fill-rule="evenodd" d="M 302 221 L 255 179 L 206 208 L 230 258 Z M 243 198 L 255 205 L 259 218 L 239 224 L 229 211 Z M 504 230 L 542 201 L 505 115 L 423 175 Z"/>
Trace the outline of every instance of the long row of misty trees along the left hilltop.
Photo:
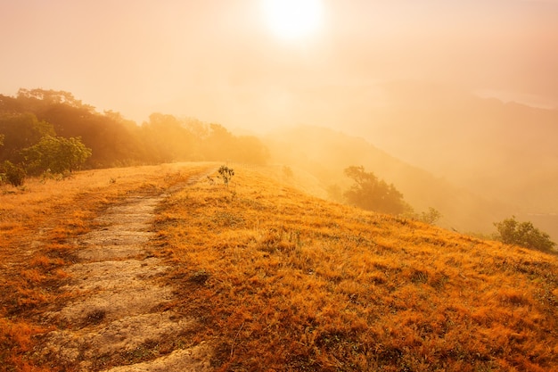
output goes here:
<path id="1" fill-rule="evenodd" d="M 62 173 L 170 161 L 262 164 L 267 147 L 216 123 L 154 112 L 137 125 L 119 112 L 96 112 L 71 93 L 20 89 L 0 95 L 0 173 Z"/>

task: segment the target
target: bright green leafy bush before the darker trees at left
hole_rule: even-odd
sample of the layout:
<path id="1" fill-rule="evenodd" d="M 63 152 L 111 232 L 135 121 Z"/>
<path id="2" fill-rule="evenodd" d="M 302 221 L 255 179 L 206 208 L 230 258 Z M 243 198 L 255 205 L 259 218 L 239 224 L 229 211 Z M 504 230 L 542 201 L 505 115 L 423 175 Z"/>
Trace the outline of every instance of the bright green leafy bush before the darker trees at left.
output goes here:
<path id="1" fill-rule="evenodd" d="M 79 169 L 91 156 L 91 149 L 80 138 L 44 136 L 37 143 L 21 151 L 29 173 L 39 174 L 47 170 L 64 173 Z"/>

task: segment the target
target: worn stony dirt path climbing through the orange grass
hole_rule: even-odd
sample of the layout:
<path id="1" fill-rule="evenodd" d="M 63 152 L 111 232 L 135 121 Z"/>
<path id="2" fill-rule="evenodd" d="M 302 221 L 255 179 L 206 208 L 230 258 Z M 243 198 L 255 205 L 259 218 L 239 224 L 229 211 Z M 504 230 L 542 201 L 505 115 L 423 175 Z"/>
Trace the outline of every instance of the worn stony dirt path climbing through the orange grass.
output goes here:
<path id="1" fill-rule="evenodd" d="M 168 192 L 181 186 L 187 185 Z M 67 270 L 72 280 L 64 288 L 79 295 L 46 314 L 58 329 L 46 335 L 40 355 L 78 371 L 211 370 L 208 344 L 185 349 L 177 342 L 196 321 L 161 311 L 174 296 L 156 280 L 168 267 L 145 250 L 154 210 L 166 195 L 129 197 L 96 219 L 99 228 L 80 236 L 80 263 Z"/>

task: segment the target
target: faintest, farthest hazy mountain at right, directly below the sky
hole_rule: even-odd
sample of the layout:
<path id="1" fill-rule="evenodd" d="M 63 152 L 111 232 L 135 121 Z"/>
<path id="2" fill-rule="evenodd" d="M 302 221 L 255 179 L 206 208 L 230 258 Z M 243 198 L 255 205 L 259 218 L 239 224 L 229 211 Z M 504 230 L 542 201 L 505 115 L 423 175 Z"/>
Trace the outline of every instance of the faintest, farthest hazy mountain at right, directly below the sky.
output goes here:
<path id="1" fill-rule="evenodd" d="M 358 126 L 362 136 L 485 198 L 558 212 L 558 110 L 440 85 L 382 88 L 382 106 Z"/>

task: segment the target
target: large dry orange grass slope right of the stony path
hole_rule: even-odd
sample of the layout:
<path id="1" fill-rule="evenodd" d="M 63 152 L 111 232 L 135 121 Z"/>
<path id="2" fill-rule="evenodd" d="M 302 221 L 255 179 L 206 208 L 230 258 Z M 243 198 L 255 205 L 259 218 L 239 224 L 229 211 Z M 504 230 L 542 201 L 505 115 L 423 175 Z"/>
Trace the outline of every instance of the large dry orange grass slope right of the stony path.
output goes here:
<path id="1" fill-rule="evenodd" d="M 556 256 L 235 170 L 170 197 L 153 245 L 217 370 L 558 368 Z"/>

